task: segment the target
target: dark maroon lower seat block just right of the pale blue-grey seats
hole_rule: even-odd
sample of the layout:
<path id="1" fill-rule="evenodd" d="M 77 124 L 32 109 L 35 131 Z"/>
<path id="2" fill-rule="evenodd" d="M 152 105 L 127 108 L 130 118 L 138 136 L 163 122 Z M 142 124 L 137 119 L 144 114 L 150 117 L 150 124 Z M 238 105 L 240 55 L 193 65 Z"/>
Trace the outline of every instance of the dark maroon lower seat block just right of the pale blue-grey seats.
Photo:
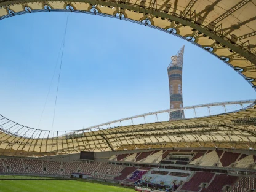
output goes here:
<path id="1" fill-rule="evenodd" d="M 198 192 L 202 183 L 209 183 L 214 178 L 214 173 L 196 172 L 188 182 L 182 185 L 182 190 Z"/>

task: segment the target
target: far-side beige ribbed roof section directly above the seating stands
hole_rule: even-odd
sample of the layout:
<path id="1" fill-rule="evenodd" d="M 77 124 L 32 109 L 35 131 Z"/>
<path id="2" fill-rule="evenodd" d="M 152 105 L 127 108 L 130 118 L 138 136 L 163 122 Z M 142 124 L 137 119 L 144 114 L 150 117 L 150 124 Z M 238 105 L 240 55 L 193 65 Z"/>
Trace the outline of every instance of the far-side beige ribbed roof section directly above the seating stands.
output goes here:
<path id="1" fill-rule="evenodd" d="M 147 148 L 256 148 L 256 105 L 222 115 L 164 121 L 116 128 L 66 131 L 27 129 L 30 137 L 1 129 L 3 155 L 56 155 L 80 150 L 133 150 Z M 20 129 L 24 126 L 19 125 Z M 46 137 L 44 137 L 46 136 Z M 54 137 L 53 137 L 54 136 Z"/>

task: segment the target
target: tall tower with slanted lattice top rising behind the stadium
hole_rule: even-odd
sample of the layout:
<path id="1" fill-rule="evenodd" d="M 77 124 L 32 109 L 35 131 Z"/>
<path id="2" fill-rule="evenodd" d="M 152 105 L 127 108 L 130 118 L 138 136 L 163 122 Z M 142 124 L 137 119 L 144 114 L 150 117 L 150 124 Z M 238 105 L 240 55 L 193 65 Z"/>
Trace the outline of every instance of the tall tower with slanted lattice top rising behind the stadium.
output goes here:
<path id="1" fill-rule="evenodd" d="M 185 45 L 178 51 L 178 53 L 175 56 L 172 56 L 172 61 L 170 62 L 167 68 L 170 90 L 170 109 L 180 109 L 183 107 L 182 66 L 184 47 Z M 183 110 L 170 112 L 170 120 L 178 120 L 183 118 Z"/>

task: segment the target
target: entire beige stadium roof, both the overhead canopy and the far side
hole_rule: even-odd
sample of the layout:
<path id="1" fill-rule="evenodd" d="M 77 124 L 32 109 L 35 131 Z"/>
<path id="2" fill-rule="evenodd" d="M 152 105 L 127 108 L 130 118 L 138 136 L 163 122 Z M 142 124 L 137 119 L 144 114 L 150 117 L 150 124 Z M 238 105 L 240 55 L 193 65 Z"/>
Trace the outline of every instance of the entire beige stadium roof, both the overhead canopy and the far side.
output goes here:
<path id="1" fill-rule="evenodd" d="M 1 0 L 0 7 L 1 20 L 30 12 L 71 11 L 150 26 L 204 48 L 256 88 L 256 0 L 77 0 L 69 3 Z M 37 137 L 31 134 L 33 136 L 26 138 L 2 130 L 0 152 L 4 155 L 54 155 L 79 150 L 161 147 L 255 149 L 255 108 L 190 120 L 82 131 L 82 135 L 73 137 L 62 136 L 65 132 L 59 131 L 56 136 L 49 132 L 41 139 L 41 134 L 46 133 L 41 131 Z"/>

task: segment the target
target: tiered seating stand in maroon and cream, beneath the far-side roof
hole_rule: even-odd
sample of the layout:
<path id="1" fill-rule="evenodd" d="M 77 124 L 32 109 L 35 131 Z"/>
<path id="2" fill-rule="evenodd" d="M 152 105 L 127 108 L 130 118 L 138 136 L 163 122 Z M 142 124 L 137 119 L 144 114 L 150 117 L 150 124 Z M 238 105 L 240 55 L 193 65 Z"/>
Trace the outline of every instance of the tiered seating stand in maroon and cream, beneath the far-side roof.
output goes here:
<path id="1" fill-rule="evenodd" d="M 166 153 L 166 154 L 163 154 Z M 183 154 L 184 152 L 178 152 L 181 155 L 177 155 L 177 152 L 164 152 L 162 150 L 155 150 L 148 153 L 128 153 L 123 156 L 115 155 L 115 158 L 120 157 L 124 159 L 125 156 L 135 156 L 139 161 L 143 159 L 150 158 L 150 161 L 158 159 L 159 156 L 162 159 L 163 156 L 166 158 L 172 157 L 172 160 L 166 160 L 168 162 L 175 161 L 177 159 L 183 160 L 186 158 Z M 216 167 L 215 163 L 220 162 L 226 167 L 231 165 L 238 166 L 239 169 L 247 168 L 248 166 L 255 165 L 255 156 L 246 155 L 241 153 L 226 152 L 222 150 L 213 150 L 206 152 L 194 152 L 195 155 L 191 158 L 191 162 L 195 162 L 201 158 L 200 167 L 207 167 L 198 171 L 196 169 L 182 170 L 183 167 L 174 167 L 169 165 L 156 165 L 156 163 L 150 164 L 140 164 L 134 158 L 134 167 L 129 166 L 131 163 L 120 162 L 115 164 L 109 161 L 56 161 L 54 159 L 38 159 L 38 158 L 1 158 L 0 159 L 0 173 L 13 173 L 13 174 L 42 174 L 42 175 L 63 175 L 70 176 L 71 173 L 77 173 L 78 175 L 86 175 L 84 178 L 95 179 L 95 180 L 112 180 L 111 182 L 119 182 L 121 185 L 134 186 L 134 183 L 140 181 L 143 186 L 150 185 L 168 185 L 178 188 L 181 192 L 211 192 L 229 190 L 232 192 L 240 192 L 239 188 L 241 186 L 246 186 L 244 191 L 254 190 L 256 185 L 255 172 L 250 171 L 249 175 L 246 177 L 241 177 L 241 175 L 228 175 L 222 174 L 222 167 Z M 155 155 L 156 154 L 156 155 Z M 172 155 L 175 154 L 175 155 Z M 141 156 L 141 157 L 140 157 Z M 144 158 L 143 156 L 146 156 Z M 154 158 L 152 158 L 152 156 Z M 112 157 L 112 156 L 111 156 Z M 135 156 L 136 157 L 136 156 Z M 192 156 L 191 156 L 192 157 Z M 213 159 L 210 159 L 212 158 Z M 142 159 L 140 159 L 142 158 Z M 165 158 L 165 159 L 166 159 Z M 110 158 L 107 158 L 110 159 Z M 185 159 L 187 160 L 187 159 Z M 209 162 L 204 162 L 209 161 Z M 187 162 L 187 161 L 185 161 Z M 193 165 L 193 164 L 192 164 Z M 202 166 L 204 165 L 204 166 Z M 214 166 L 215 169 L 220 169 L 219 173 L 214 172 L 214 169 L 210 168 L 210 165 Z M 144 167 L 143 167 L 144 166 Z M 151 167 L 150 167 L 151 166 Z M 8 167 L 8 169 L 7 169 Z M 162 168 L 166 167 L 166 168 Z M 232 166 L 233 167 L 233 166 Z M 231 168 L 232 168 L 231 167 Z M 241 167 L 241 168 L 240 168 Z M 252 169 L 251 169 L 252 170 Z M 209 172 L 213 171 L 213 172 Z M 241 172 L 242 173 L 242 172 Z"/>

